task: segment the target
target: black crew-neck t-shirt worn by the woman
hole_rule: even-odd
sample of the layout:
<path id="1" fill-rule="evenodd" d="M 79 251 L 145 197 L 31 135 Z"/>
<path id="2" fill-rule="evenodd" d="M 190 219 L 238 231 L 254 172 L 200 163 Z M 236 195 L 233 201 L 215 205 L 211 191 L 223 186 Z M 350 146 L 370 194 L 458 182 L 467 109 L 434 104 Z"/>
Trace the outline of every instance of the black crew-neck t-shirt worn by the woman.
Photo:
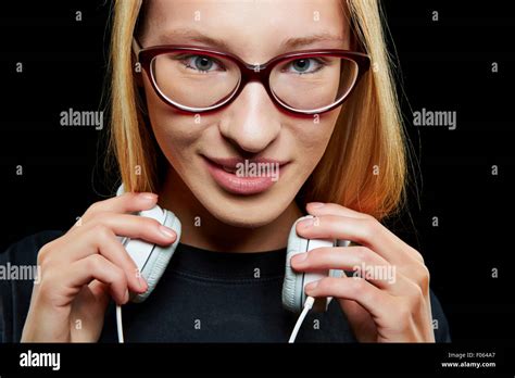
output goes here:
<path id="1" fill-rule="evenodd" d="M 36 265 L 39 249 L 62 236 L 43 231 L 0 254 L 5 273 Z M 179 243 L 159 285 L 143 303 L 123 306 L 126 342 L 287 342 L 298 315 L 282 307 L 286 249 L 212 252 Z M 0 270 L 1 272 L 1 270 Z M 32 280 L 0 277 L 0 341 L 20 342 Z M 449 342 L 445 316 L 431 292 L 437 342 Z M 114 304 L 101 342 L 117 342 Z M 296 342 L 356 342 L 337 300 L 326 313 L 307 313 Z"/>

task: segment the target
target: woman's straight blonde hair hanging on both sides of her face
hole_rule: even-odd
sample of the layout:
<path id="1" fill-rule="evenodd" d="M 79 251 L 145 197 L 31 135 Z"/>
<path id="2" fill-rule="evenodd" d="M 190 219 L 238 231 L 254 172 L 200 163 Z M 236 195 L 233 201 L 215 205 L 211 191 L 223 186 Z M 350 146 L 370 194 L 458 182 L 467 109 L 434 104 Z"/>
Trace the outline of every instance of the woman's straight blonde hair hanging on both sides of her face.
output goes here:
<path id="1" fill-rule="evenodd" d="M 127 191 L 156 191 L 160 149 L 143 117 L 133 75 L 131 41 L 142 1 L 116 0 L 111 39 L 109 150 Z M 372 68 L 342 106 L 324 156 L 303 186 L 302 202 L 334 202 L 381 219 L 402 209 L 406 139 L 376 0 L 348 0 L 354 42 Z"/>

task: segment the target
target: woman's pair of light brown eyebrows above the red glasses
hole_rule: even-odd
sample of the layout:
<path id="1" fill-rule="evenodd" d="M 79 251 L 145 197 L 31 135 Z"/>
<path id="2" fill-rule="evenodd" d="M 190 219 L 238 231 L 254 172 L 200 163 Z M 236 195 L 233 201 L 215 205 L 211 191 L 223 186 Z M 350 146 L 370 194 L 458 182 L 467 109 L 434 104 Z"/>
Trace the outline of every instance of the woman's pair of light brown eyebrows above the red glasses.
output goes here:
<path id="1" fill-rule="evenodd" d="M 174 29 L 164 35 L 160 36 L 160 41 L 167 43 L 173 41 L 177 38 L 185 38 L 190 41 L 200 42 L 204 45 L 209 45 L 211 47 L 215 47 L 225 51 L 233 51 L 231 48 L 226 43 L 226 41 L 217 38 L 212 38 L 199 30 L 189 29 L 189 28 L 181 28 L 181 29 Z M 314 45 L 316 42 L 323 41 L 332 41 L 344 43 L 347 39 L 343 36 L 332 35 L 329 33 L 318 33 L 313 34 L 304 37 L 294 37 L 288 38 L 280 43 L 280 50 L 287 51 L 289 49 L 298 49 L 301 47 Z"/>

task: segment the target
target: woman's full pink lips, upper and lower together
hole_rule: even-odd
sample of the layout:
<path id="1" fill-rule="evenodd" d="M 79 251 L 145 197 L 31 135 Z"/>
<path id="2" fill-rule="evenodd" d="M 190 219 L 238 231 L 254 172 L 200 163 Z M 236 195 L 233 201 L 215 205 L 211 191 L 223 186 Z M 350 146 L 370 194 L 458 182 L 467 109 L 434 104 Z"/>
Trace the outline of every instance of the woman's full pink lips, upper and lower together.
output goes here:
<path id="1" fill-rule="evenodd" d="M 280 175 L 284 172 L 284 167 L 289 163 L 287 161 L 279 161 L 274 159 L 259 158 L 259 159 L 240 159 L 240 158 L 208 158 L 202 155 L 204 159 L 208 171 L 210 172 L 213 179 L 223 189 L 233 193 L 240 196 L 251 196 L 261 193 L 269 189 L 276 181 L 272 176 L 263 177 L 241 177 L 237 176 L 236 173 L 227 172 L 224 168 L 236 171 L 239 164 L 252 163 L 267 163 L 267 164 L 278 164 L 277 175 Z M 274 165 L 277 167 L 277 165 Z"/>

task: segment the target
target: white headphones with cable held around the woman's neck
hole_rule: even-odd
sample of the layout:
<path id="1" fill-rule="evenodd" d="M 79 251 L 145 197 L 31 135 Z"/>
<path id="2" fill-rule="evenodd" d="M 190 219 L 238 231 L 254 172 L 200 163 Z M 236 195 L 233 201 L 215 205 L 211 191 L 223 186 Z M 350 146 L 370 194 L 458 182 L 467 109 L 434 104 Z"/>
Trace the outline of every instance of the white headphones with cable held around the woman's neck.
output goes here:
<path id="1" fill-rule="evenodd" d="M 123 185 L 120 186 L 116 191 L 116 196 L 124 193 Z M 167 247 L 161 247 L 158 244 L 148 243 L 140 239 L 129 239 L 121 238 L 122 244 L 124 244 L 127 253 L 136 263 L 141 276 L 148 282 L 148 290 L 142 294 L 131 295 L 131 301 L 136 303 L 143 302 L 150 293 L 154 290 L 158 285 L 161 276 L 166 269 L 169 260 L 174 255 L 175 250 L 180 240 L 180 220 L 174 213 L 168 210 L 162 210 L 160 206 L 155 205 L 151 210 L 141 211 L 138 213 L 140 216 L 147 216 L 153 219 L 156 219 L 160 224 L 165 225 L 166 227 L 172 228 L 177 234 L 177 239 L 173 244 Z M 324 272 L 296 272 L 291 268 L 290 260 L 298 253 L 303 253 L 311 251 L 315 248 L 321 247 L 347 247 L 349 241 L 347 240 L 323 240 L 323 239 L 304 239 L 297 235 L 296 225 L 298 222 L 313 217 L 312 215 L 303 216 L 299 218 L 293 226 L 291 227 L 290 235 L 288 237 L 288 248 L 286 253 L 286 265 L 285 265 L 285 280 L 282 282 L 282 306 L 296 314 L 301 313 L 299 319 L 293 328 L 289 342 L 293 342 L 297 332 L 302 325 L 302 322 L 307 314 L 307 312 L 313 307 L 315 312 L 325 312 L 331 301 L 329 298 L 317 298 L 306 297 L 304 292 L 304 287 L 313 281 L 319 280 L 324 277 L 341 277 L 343 275 L 342 270 L 339 269 L 329 269 Z M 118 328 L 118 341 L 124 342 L 123 338 L 123 327 L 122 327 L 122 308 L 121 306 L 116 307 L 116 318 L 117 318 L 117 328 Z"/>

